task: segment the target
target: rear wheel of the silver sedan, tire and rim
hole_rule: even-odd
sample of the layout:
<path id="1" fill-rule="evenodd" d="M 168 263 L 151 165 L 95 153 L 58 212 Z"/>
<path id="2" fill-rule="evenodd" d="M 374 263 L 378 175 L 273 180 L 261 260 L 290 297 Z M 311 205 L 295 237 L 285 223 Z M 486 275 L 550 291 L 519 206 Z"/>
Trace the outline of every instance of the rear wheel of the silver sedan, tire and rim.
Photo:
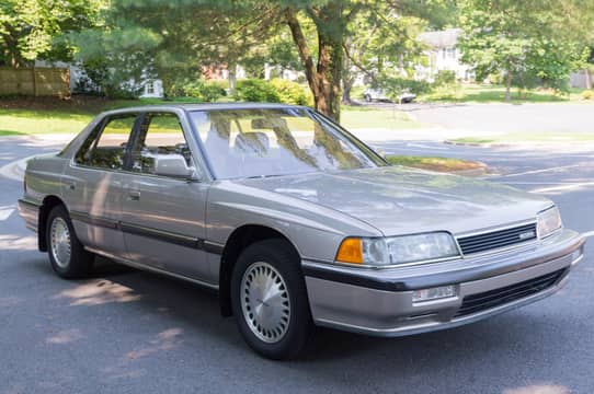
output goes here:
<path id="1" fill-rule="evenodd" d="M 49 211 L 45 233 L 49 263 L 58 276 L 75 279 L 91 273 L 94 255 L 87 252 L 78 240 L 64 206 L 56 206 Z"/>

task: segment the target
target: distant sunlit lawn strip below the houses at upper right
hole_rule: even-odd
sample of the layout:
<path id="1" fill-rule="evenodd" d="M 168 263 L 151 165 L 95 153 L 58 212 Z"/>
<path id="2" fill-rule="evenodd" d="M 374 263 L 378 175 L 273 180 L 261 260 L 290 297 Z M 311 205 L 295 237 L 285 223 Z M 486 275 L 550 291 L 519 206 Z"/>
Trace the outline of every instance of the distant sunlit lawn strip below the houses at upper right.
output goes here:
<path id="1" fill-rule="evenodd" d="M 534 90 L 519 95 L 512 89 L 512 103 L 584 103 L 594 104 L 594 100 L 583 100 L 582 89 L 571 89 L 569 94 L 558 94 L 551 90 Z M 456 103 L 505 103 L 505 88 L 500 85 L 462 84 L 455 89 L 444 88 L 420 97 L 422 102 Z"/>

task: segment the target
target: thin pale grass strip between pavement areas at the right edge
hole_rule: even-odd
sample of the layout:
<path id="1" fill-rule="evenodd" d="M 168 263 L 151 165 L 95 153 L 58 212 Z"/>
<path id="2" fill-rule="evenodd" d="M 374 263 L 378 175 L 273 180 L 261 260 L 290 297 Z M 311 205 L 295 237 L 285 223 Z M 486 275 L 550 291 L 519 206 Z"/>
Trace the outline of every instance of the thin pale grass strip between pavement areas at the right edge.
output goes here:
<path id="1" fill-rule="evenodd" d="M 452 142 L 473 144 L 518 144 L 518 143 L 559 143 L 594 142 L 592 132 L 510 132 L 498 136 L 462 137 Z"/>

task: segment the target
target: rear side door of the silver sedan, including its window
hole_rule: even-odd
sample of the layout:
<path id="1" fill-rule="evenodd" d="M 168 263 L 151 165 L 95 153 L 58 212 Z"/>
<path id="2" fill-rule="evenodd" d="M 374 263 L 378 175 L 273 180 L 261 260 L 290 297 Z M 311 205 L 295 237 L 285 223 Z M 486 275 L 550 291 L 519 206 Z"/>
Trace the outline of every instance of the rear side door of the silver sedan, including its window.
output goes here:
<path id="1" fill-rule="evenodd" d="M 122 219 L 122 171 L 137 113 L 105 117 L 89 134 L 62 175 L 62 197 L 78 237 L 107 255 L 126 253 Z"/>

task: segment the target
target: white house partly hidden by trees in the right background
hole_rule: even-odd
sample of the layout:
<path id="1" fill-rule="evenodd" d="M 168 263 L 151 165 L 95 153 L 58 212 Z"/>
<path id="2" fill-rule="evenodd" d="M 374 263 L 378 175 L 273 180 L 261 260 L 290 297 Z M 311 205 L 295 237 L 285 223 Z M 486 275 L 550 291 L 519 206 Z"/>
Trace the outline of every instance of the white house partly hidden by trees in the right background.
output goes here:
<path id="1" fill-rule="evenodd" d="M 427 65 L 415 67 L 416 79 L 433 82 L 439 71 L 454 71 L 457 80 L 470 81 L 473 77 L 470 66 L 461 62 L 458 37 L 461 28 L 421 33 L 418 39 L 426 45 L 424 54 Z"/>

